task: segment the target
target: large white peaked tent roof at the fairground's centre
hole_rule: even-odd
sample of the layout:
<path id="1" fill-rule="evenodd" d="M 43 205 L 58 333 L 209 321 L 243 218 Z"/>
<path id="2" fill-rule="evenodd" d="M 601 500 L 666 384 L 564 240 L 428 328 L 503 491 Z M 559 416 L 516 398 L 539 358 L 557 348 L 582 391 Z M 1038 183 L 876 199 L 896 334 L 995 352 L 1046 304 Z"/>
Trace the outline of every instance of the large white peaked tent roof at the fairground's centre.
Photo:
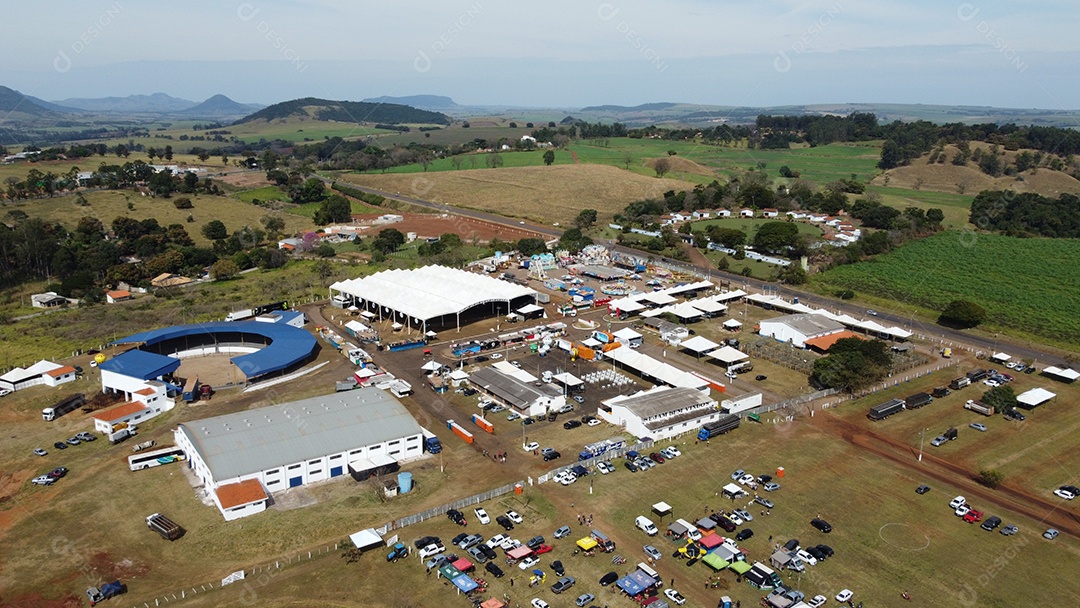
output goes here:
<path id="1" fill-rule="evenodd" d="M 330 289 L 424 321 L 458 314 L 485 302 L 536 295 L 522 285 L 445 266 L 383 270 L 370 276 L 338 281 Z"/>

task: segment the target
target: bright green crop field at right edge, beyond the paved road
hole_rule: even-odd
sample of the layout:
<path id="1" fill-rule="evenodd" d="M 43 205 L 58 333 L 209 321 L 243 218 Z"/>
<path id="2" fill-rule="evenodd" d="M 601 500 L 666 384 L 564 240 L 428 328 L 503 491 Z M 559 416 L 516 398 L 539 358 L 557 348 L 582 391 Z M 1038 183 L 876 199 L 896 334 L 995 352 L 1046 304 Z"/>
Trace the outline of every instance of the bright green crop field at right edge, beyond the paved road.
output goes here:
<path id="1" fill-rule="evenodd" d="M 1080 284 L 1080 240 L 1013 239 L 947 231 L 876 259 L 841 266 L 813 281 L 942 310 L 958 298 L 983 306 L 988 324 L 1076 348 L 1080 301 L 1063 297 Z"/>

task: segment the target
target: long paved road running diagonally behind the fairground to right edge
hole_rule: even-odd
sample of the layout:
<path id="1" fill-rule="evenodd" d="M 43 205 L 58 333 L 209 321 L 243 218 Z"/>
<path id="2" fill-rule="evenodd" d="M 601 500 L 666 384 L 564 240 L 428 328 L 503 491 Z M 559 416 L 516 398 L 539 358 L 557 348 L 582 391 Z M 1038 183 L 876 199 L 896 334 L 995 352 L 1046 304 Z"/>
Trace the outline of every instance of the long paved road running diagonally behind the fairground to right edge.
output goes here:
<path id="1" fill-rule="evenodd" d="M 334 180 L 321 177 L 327 184 L 332 184 Z M 502 216 L 482 212 L 474 210 L 467 210 L 455 207 L 444 203 L 435 203 L 431 201 L 426 201 L 423 199 L 418 199 L 416 197 L 409 197 L 405 194 L 397 194 L 394 192 L 386 192 L 382 190 L 376 190 L 375 188 L 367 188 L 365 186 L 356 186 L 355 184 L 350 184 L 351 187 L 368 192 L 372 194 L 379 194 L 388 199 L 396 199 L 422 207 L 428 207 L 432 210 L 437 210 L 445 213 L 455 213 L 465 217 L 472 217 L 476 219 L 482 219 L 485 221 L 491 221 L 495 224 L 501 224 L 503 226 L 515 226 L 521 228 L 522 224 L 515 224 Z M 552 228 L 549 226 L 540 226 L 536 224 L 525 222 L 525 227 L 541 234 L 546 234 L 552 238 L 562 237 L 563 231 L 557 228 Z M 649 255 L 647 253 L 632 249 L 616 243 L 606 243 L 608 247 L 612 251 L 624 253 L 633 256 Z M 987 353 L 997 352 L 999 350 L 1007 351 L 1014 357 L 1021 357 L 1026 360 L 1034 360 L 1041 365 L 1053 365 L 1058 363 L 1062 359 L 1058 354 L 1053 354 L 1049 351 L 1039 350 L 1031 347 L 1030 344 L 1017 343 L 1013 341 L 1002 339 L 995 339 L 991 337 L 983 337 L 973 334 L 968 334 L 957 329 L 949 329 L 947 327 L 942 327 L 940 325 L 926 323 L 924 321 L 915 319 L 910 315 L 895 314 L 889 311 L 878 311 L 876 315 L 870 316 L 867 314 L 867 309 L 858 306 L 855 303 L 846 302 L 843 300 L 828 298 L 825 296 L 820 296 L 818 294 L 812 294 L 801 289 L 796 289 L 786 285 L 779 285 L 777 283 L 769 283 L 766 281 L 758 281 L 755 279 L 747 279 L 740 274 L 732 274 L 730 272 L 724 272 L 715 268 L 708 268 L 702 265 L 693 265 L 689 262 L 684 262 L 671 258 L 661 258 L 660 261 L 672 268 L 678 269 L 684 272 L 698 274 L 701 276 L 708 278 L 716 281 L 729 281 L 732 285 L 741 286 L 743 288 L 751 288 L 757 292 L 768 292 L 774 293 L 779 296 L 784 296 L 788 300 L 793 298 L 798 298 L 800 302 L 814 306 L 818 308 L 825 308 L 831 311 L 838 313 L 846 313 L 856 319 L 873 319 L 878 323 L 883 325 L 897 325 L 905 327 L 910 332 L 914 332 L 928 339 L 937 340 L 945 346 L 951 346 L 953 348 L 968 348 L 971 351 L 983 351 Z"/>

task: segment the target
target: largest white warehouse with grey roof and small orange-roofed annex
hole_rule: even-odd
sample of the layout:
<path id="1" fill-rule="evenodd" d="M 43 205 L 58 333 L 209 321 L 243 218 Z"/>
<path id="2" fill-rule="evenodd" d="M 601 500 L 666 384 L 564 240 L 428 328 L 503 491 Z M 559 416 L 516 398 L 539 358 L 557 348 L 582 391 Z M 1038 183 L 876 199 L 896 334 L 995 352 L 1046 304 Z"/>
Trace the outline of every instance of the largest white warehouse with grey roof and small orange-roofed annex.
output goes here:
<path id="1" fill-rule="evenodd" d="M 268 494 L 346 474 L 364 479 L 423 454 L 420 425 L 375 388 L 181 422 L 174 433 L 227 521 L 265 510 Z M 265 491 L 251 491 L 256 483 Z"/>

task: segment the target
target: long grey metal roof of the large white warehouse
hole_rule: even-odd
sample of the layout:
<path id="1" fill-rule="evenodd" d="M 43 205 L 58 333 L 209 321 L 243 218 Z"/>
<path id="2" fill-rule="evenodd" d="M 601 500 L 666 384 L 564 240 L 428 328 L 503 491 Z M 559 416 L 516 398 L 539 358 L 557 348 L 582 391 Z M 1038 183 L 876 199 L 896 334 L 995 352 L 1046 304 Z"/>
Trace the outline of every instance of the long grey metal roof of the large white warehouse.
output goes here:
<path id="1" fill-rule="evenodd" d="M 178 431 L 218 481 L 421 433 L 393 395 L 375 388 L 192 420 Z"/>

